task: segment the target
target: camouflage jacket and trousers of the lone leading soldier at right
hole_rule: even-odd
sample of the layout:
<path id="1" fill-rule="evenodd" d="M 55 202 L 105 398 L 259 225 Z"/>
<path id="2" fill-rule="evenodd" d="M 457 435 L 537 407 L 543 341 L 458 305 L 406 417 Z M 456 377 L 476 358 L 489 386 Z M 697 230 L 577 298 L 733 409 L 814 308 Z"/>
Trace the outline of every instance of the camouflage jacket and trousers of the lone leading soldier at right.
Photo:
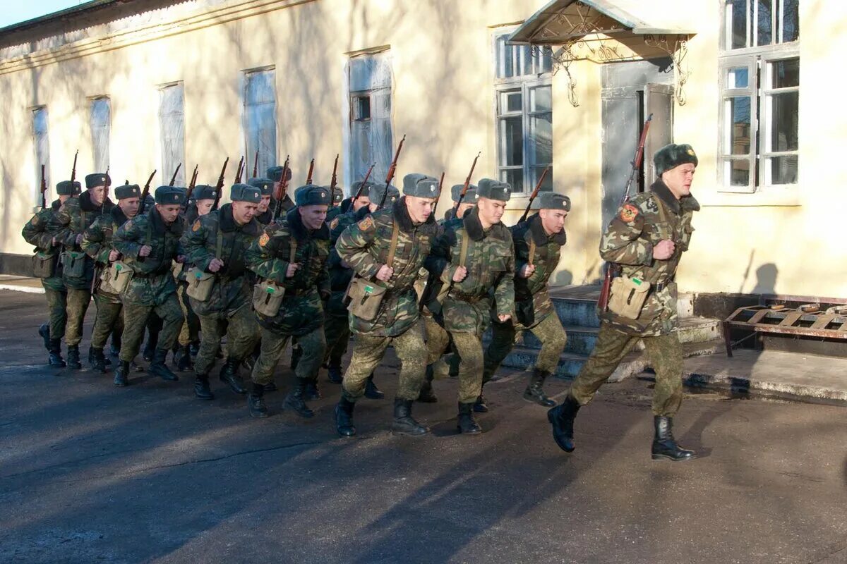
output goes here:
<path id="1" fill-rule="evenodd" d="M 677 285 L 673 282 L 679 259 L 688 250 L 691 218 L 700 205 L 693 196 L 677 200 L 662 180 L 650 192 L 638 194 L 622 205 L 609 223 L 600 244 L 604 260 L 622 267 L 623 275 L 650 282 L 652 287 L 637 320 L 611 311 L 601 314 L 601 329 L 590 359 L 571 386 L 571 395 L 584 405 L 637 342 L 656 370 L 653 413 L 673 417 L 682 402 L 682 346 L 671 332 L 678 324 Z M 662 239 L 676 244 L 668 260 L 653 258 L 653 246 Z M 657 286 L 658 285 L 658 286 Z"/>

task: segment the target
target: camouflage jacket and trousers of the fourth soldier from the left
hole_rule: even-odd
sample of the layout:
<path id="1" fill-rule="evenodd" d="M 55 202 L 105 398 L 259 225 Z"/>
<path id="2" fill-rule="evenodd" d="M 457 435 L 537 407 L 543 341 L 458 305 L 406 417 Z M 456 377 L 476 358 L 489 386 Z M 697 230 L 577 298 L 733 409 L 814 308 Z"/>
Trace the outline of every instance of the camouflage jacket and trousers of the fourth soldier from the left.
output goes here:
<path id="1" fill-rule="evenodd" d="M 183 228 L 179 218 L 166 225 L 153 206 L 150 211 L 130 219 L 114 233 L 114 248 L 135 271 L 125 293 L 121 294 L 124 302 L 124 336 L 120 360 L 123 362 L 132 361 L 138 354 L 147 320 L 153 312 L 163 320 L 158 348 L 168 350 L 174 346 L 183 315 L 176 298 L 176 283 L 171 266 L 178 255 L 184 255 L 180 246 Z M 138 256 L 143 245 L 152 248 L 147 257 Z"/>

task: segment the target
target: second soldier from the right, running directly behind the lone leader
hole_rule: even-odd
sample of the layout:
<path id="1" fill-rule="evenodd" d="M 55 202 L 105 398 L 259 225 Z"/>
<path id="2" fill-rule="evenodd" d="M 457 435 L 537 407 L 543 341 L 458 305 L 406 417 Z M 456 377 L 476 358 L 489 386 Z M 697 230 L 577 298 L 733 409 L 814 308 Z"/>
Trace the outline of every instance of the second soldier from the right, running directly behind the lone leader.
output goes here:
<path id="1" fill-rule="evenodd" d="M 515 245 L 515 316 L 516 320 L 492 324 L 492 338 L 485 350 L 483 386 L 500 368 L 512 350 L 518 331 L 532 331 L 541 342 L 533 375 L 523 399 L 545 407 L 556 402 L 544 392 L 545 379 L 559 363 L 567 336 L 547 293 L 547 281 L 559 264 L 559 251 L 567 241 L 565 217 L 571 200 L 563 194 L 544 192 L 539 196 L 540 211 L 526 221 L 510 227 Z M 480 400 L 479 403 L 484 405 Z"/>

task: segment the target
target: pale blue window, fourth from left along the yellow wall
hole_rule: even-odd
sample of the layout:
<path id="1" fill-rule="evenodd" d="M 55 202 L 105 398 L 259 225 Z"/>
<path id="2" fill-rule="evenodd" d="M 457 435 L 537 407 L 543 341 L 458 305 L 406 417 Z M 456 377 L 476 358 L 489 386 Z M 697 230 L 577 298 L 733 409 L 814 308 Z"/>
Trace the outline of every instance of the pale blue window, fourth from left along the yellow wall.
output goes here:
<path id="1" fill-rule="evenodd" d="M 252 176 L 258 151 L 258 171 L 276 166 L 276 80 L 274 70 L 247 73 L 244 84 L 244 178 Z M 249 165 L 249 166 L 248 166 Z M 263 175 L 264 172 L 259 172 Z"/>

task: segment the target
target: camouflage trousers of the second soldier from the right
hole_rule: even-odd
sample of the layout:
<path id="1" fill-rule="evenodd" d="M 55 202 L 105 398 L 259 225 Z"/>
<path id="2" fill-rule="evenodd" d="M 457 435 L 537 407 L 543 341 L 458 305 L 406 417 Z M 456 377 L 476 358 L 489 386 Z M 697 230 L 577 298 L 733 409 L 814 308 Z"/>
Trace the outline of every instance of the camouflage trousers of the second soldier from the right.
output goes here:
<path id="1" fill-rule="evenodd" d="M 483 384 L 491 380 L 491 376 L 500 368 L 503 359 L 506 359 L 507 354 L 512 351 L 518 331 L 532 331 L 532 334 L 541 342 L 541 350 L 535 359 L 535 370 L 547 374 L 556 371 L 559 357 L 567 343 L 567 335 L 562 327 L 562 321 L 555 313 L 547 315 L 531 329 L 518 329 L 512 324 L 512 321 L 508 321 L 507 323 L 492 323 L 491 330 L 491 342 L 485 349 Z"/>

